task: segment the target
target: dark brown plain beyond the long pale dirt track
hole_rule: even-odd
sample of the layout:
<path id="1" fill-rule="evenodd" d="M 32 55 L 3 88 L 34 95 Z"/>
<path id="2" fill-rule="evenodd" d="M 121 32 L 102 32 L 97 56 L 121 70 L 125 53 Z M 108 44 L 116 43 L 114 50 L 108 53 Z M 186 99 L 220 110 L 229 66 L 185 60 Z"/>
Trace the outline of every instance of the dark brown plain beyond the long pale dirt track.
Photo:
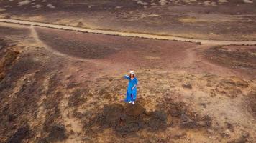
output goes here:
<path id="1" fill-rule="evenodd" d="M 6 0 L 0 1 L 0 16 L 88 29 L 252 41 L 255 4 L 255 0 Z"/>

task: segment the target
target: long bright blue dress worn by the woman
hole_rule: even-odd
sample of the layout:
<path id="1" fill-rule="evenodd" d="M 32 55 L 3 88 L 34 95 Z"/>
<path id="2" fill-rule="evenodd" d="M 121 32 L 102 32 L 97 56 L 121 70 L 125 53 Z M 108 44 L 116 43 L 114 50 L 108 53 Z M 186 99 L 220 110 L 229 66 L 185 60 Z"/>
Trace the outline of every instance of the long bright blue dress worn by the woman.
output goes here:
<path id="1" fill-rule="evenodd" d="M 129 84 L 127 87 L 127 97 L 126 99 L 124 99 L 124 101 L 133 102 L 137 97 L 137 84 L 138 84 L 137 78 L 134 77 L 134 79 L 131 79 L 129 76 L 124 76 L 124 78 L 129 80 Z M 134 87 L 135 84 L 136 84 L 136 87 Z M 132 87 L 134 87 L 133 90 L 132 90 Z"/>

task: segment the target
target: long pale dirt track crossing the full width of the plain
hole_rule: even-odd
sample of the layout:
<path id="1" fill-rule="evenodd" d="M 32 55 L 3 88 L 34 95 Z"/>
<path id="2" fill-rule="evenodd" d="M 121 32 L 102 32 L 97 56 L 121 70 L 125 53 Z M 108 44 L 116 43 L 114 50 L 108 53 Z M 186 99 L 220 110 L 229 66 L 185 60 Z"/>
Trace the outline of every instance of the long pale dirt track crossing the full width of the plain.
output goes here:
<path id="1" fill-rule="evenodd" d="M 42 26 L 48 27 L 52 29 L 65 29 L 71 31 L 82 31 L 88 33 L 95 33 L 95 34 L 110 34 L 110 35 L 117 35 L 117 36 L 132 36 L 132 37 L 140 37 L 140 38 L 147 38 L 147 39 L 166 39 L 166 40 L 178 40 L 178 41 L 193 41 L 193 42 L 201 42 L 202 44 L 222 44 L 222 45 L 229 45 L 229 44 L 256 44 L 256 41 L 219 41 L 219 40 L 204 40 L 204 39 L 188 39 L 182 38 L 178 36 L 161 36 L 156 34 L 140 34 L 140 33 L 129 33 L 129 32 L 122 32 L 122 31 L 109 31 L 109 30 L 99 30 L 99 29 L 83 29 L 74 26 L 63 26 L 58 24 L 45 24 L 40 22 L 34 21 L 22 21 L 22 20 L 14 20 L 14 19 L 0 19 L 0 22 L 7 22 L 12 24 L 27 24 L 31 26 Z"/>

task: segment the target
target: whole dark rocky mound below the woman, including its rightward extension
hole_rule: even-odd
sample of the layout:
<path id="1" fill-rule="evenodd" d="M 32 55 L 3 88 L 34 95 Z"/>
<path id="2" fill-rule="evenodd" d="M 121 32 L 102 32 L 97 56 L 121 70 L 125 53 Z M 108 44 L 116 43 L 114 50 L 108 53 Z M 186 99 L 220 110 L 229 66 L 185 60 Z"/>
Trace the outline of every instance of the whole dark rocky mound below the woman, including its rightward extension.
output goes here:
<path id="1" fill-rule="evenodd" d="M 178 122 L 168 122 L 168 115 Z M 126 136 L 142 129 L 157 132 L 175 125 L 183 129 L 211 127 L 211 118 L 192 117 L 175 105 L 172 109 L 166 107 L 163 110 L 147 112 L 140 104 L 106 104 L 103 111 L 85 125 L 85 129 L 91 132 L 95 124 L 101 128 L 111 128 L 117 135 Z"/>

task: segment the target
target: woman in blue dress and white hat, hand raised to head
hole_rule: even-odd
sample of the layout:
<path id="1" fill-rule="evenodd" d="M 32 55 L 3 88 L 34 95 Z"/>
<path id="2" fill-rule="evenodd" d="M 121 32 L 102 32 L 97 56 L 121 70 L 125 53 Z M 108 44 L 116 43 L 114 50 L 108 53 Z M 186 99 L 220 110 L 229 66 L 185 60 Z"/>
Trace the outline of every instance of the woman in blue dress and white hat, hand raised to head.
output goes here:
<path id="1" fill-rule="evenodd" d="M 135 77 L 134 71 L 130 71 L 129 74 L 124 76 L 125 79 L 129 80 L 129 84 L 127 87 L 127 97 L 125 102 L 135 104 L 135 100 L 137 97 L 137 78 Z"/>

